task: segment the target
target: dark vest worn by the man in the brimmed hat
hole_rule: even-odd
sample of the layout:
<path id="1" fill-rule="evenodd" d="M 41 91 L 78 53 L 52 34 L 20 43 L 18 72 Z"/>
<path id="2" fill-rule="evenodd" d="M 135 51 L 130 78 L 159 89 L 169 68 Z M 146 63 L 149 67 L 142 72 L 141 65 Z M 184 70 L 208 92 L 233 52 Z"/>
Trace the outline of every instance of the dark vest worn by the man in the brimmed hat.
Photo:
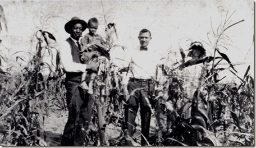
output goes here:
<path id="1" fill-rule="evenodd" d="M 73 62 L 81 63 L 80 53 L 79 53 L 80 50 L 77 47 L 76 43 L 71 38 L 66 39 L 66 41 L 67 41 L 68 44 L 70 44 L 71 55 L 72 55 L 72 58 L 73 58 Z M 82 73 L 83 72 L 66 72 L 66 79 L 71 80 L 71 81 L 80 82 Z"/>

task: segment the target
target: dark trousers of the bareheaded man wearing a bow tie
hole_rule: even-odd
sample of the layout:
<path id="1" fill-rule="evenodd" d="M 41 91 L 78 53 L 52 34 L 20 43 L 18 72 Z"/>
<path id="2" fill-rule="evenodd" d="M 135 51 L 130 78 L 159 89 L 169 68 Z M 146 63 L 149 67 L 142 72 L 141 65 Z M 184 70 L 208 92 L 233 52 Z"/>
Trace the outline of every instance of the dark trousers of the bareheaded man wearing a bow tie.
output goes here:
<path id="1" fill-rule="evenodd" d="M 134 133 L 135 118 L 140 104 L 141 133 L 148 139 L 151 110 L 145 98 L 148 98 L 149 102 L 152 103 L 154 85 L 152 81 L 131 79 L 127 85 L 127 89 L 129 94 L 135 89 L 141 89 L 136 90 L 134 95 L 130 96 L 125 107 L 125 121 L 128 122 L 126 123 L 126 128 L 129 132 L 129 136 L 132 137 Z M 141 136 L 141 145 L 146 144 L 144 137 Z"/>

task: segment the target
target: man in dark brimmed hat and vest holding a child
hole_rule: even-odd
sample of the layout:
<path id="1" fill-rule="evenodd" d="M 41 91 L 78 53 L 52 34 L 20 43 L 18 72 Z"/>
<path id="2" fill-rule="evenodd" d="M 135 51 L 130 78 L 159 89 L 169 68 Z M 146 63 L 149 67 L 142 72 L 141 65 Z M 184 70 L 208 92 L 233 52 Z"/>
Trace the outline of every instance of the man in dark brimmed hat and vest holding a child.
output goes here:
<path id="1" fill-rule="evenodd" d="M 80 61 L 79 38 L 86 29 L 87 23 L 78 17 L 72 17 L 65 25 L 70 38 L 60 46 L 60 57 L 66 71 L 65 87 L 68 107 L 68 120 L 63 132 L 61 145 L 83 145 L 82 129 L 88 127 L 92 117 L 92 99 L 90 94 L 77 87 L 85 70 L 97 70 L 98 63 L 82 64 Z"/>

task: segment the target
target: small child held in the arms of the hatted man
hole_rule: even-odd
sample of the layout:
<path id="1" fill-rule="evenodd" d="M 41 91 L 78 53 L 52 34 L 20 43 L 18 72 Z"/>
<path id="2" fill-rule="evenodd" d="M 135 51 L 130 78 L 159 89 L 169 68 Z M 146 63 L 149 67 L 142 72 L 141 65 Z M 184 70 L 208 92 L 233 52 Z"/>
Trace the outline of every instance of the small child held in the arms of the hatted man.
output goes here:
<path id="1" fill-rule="evenodd" d="M 85 64 L 91 62 L 97 62 L 99 56 L 105 56 L 109 59 L 109 54 L 106 51 L 106 42 L 103 40 L 102 36 L 96 34 L 99 26 L 98 20 L 93 17 L 88 21 L 89 33 L 81 39 L 81 61 Z M 86 75 L 90 75 L 89 86 L 85 82 Z M 93 94 L 93 81 L 97 76 L 97 71 L 86 71 L 83 73 L 81 78 L 80 87 L 88 90 L 89 94 Z"/>

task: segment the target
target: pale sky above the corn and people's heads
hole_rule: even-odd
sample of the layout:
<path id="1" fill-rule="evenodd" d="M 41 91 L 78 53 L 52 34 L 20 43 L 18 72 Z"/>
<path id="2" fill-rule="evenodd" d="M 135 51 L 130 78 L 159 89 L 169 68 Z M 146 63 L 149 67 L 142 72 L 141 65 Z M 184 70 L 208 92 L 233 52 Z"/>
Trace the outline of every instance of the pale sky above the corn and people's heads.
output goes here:
<path id="1" fill-rule="evenodd" d="M 211 31 L 216 33 L 227 12 L 230 16 L 235 11 L 231 24 L 244 21 L 226 31 L 225 35 L 232 42 L 223 43 L 228 50 L 222 48 L 221 52 L 227 54 L 232 63 L 245 63 L 236 66 L 239 76 L 244 75 L 249 65 L 252 70 L 254 67 L 254 3 L 249 0 L 1 1 L 0 5 L 8 26 L 8 32 L 2 30 L 0 33 L 0 53 L 7 54 L 12 62 L 18 55 L 26 61 L 29 55 L 25 52 L 35 52 L 36 30 L 49 31 L 58 43 L 68 38 L 64 25 L 73 16 L 86 22 L 97 17 L 100 22 L 98 34 L 104 36 L 104 12 L 111 14 L 108 22 L 117 24 L 118 44 L 125 45 L 128 50 L 139 45 L 139 31 L 147 28 L 152 32 L 150 44 L 163 57 L 169 56 L 175 61 L 179 56 L 173 54 L 179 53 L 179 46 L 188 49 L 189 43 L 196 40 L 202 41 L 207 55 L 211 55 L 212 46 L 203 41 L 208 43 L 207 34 L 210 34 L 209 39 L 214 42 L 216 38 L 211 37 Z M 11 57 L 15 52 L 19 53 Z"/>

